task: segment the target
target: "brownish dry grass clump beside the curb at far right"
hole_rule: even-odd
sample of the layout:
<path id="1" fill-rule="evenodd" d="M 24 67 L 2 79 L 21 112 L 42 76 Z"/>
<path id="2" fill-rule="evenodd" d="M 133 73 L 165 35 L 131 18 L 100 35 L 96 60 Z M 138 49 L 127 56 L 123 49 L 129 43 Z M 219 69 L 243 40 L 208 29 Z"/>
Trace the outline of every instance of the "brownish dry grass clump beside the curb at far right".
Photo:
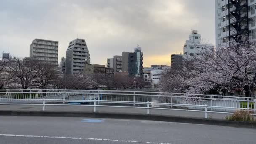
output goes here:
<path id="1" fill-rule="evenodd" d="M 256 122 L 256 119 L 251 115 L 253 112 L 245 110 L 235 111 L 232 115 L 226 116 L 226 120 L 238 122 Z"/>

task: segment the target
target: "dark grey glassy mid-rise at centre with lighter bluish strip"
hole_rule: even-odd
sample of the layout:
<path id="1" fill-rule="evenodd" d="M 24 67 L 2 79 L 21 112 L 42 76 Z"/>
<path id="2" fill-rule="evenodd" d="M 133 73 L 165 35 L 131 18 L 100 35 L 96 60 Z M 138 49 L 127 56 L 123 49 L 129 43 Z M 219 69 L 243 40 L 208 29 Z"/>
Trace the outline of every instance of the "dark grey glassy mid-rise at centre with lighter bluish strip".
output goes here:
<path id="1" fill-rule="evenodd" d="M 141 47 L 134 48 L 134 53 L 129 53 L 128 57 L 129 75 L 143 77 L 143 53 Z"/>

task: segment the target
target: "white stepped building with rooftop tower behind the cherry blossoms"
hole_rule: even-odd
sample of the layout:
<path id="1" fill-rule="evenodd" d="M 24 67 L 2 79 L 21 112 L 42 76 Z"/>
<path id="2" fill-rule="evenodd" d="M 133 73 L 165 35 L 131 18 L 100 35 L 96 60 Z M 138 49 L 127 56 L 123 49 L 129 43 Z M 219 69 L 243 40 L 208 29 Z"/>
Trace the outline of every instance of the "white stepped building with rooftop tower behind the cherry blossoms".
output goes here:
<path id="1" fill-rule="evenodd" d="M 197 30 L 192 30 L 189 35 L 189 40 L 183 48 L 184 59 L 190 58 L 190 56 L 200 55 L 202 51 L 214 50 L 214 45 L 201 43 L 201 35 L 197 33 Z"/>

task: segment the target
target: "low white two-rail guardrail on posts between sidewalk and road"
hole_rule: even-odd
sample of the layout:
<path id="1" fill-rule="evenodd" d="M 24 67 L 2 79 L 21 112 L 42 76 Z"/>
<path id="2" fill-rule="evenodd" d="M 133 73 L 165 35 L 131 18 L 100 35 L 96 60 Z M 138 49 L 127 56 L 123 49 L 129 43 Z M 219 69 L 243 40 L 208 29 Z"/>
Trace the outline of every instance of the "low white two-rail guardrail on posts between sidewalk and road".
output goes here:
<path id="1" fill-rule="evenodd" d="M 11 99 L 0 99 L 2 100 L 11 100 Z M 221 111 L 212 111 L 211 109 L 235 109 L 235 110 L 246 110 L 250 112 L 256 112 L 256 108 L 235 108 L 235 107 L 216 107 L 216 106 L 208 106 L 208 105 L 193 105 L 193 104 L 167 104 L 167 103 L 156 103 L 156 102 L 134 102 L 134 101 L 102 101 L 102 100 L 68 100 L 68 99 L 20 99 L 21 101 L 37 101 L 41 102 L 40 104 L 6 104 L 0 103 L 0 105 L 40 105 L 42 106 L 42 111 L 45 111 L 45 106 L 84 106 L 84 107 L 93 107 L 93 112 L 96 112 L 96 107 L 123 107 L 123 108 L 141 108 L 147 109 L 147 114 L 149 114 L 149 109 L 163 109 L 163 110 L 178 110 L 178 111 L 188 111 L 188 112 L 203 112 L 205 113 L 205 118 L 208 118 L 208 113 L 222 113 L 222 114 L 232 114 L 232 112 L 221 112 Z M 92 104 L 46 104 L 46 102 L 80 102 L 80 103 L 92 103 Z M 98 104 L 97 104 L 98 103 Z M 99 104 L 100 103 L 100 104 Z M 135 106 L 117 106 L 117 105 L 104 105 L 104 104 L 136 104 Z M 155 104 L 160 106 L 169 106 L 168 108 L 163 107 L 152 107 Z M 192 108 L 201 108 L 203 110 L 196 109 L 182 109 L 173 107 L 192 107 Z M 256 116 L 255 114 L 251 114 Z"/>

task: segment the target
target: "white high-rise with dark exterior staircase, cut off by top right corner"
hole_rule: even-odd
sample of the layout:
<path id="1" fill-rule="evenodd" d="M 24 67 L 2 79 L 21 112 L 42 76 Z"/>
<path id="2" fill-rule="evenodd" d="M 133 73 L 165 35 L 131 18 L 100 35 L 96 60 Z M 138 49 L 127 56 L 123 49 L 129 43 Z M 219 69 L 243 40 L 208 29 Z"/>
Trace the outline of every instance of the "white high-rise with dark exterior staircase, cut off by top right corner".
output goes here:
<path id="1" fill-rule="evenodd" d="M 256 0 L 215 0 L 216 47 L 256 38 Z"/>

